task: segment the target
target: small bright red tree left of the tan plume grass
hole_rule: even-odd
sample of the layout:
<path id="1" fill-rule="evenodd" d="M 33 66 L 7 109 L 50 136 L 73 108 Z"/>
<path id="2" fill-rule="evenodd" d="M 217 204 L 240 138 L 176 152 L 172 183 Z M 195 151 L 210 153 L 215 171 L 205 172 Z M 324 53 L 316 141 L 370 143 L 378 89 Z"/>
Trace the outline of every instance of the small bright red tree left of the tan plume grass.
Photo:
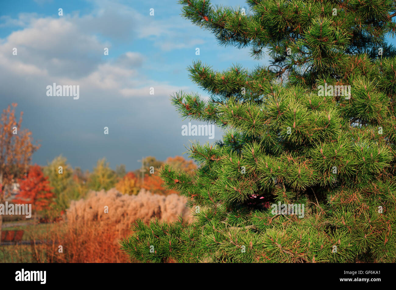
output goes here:
<path id="1" fill-rule="evenodd" d="M 29 173 L 24 179 L 19 179 L 19 193 L 14 203 L 31 203 L 35 211 L 49 209 L 53 203 L 54 194 L 49 186 L 48 177 L 45 177 L 40 166 L 30 166 Z"/>

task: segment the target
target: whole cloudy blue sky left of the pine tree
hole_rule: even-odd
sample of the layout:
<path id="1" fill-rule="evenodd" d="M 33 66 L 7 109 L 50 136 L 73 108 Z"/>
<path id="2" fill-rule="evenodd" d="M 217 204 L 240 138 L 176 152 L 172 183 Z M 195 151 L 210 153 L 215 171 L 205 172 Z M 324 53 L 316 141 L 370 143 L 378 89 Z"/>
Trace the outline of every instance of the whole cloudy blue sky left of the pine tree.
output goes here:
<path id="1" fill-rule="evenodd" d="M 246 8 L 243 0 L 211 2 Z M 236 63 L 252 69 L 268 60 L 253 60 L 248 48 L 219 46 L 180 13 L 176 0 L 2 2 L 0 109 L 16 102 L 17 112 L 23 111 L 23 127 L 41 144 L 33 163 L 45 165 L 63 154 L 84 170 L 103 157 L 112 168 L 134 170 L 142 156 L 165 160 L 185 152 L 190 140 L 221 139 L 219 128 L 214 139 L 182 136 L 189 120 L 179 117 L 170 95 L 183 89 L 208 96 L 188 77 L 194 60 L 215 70 Z M 46 96 L 52 83 L 79 85 L 80 98 Z"/>

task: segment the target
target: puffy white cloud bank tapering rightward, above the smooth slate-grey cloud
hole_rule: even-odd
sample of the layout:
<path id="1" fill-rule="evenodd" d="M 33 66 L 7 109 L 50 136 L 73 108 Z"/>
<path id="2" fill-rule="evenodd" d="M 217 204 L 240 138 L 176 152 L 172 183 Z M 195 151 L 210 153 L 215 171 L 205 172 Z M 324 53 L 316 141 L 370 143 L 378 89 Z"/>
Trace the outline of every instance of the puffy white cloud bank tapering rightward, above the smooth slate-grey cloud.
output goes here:
<path id="1" fill-rule="evenodd" d="M 81 32 L 70 18 L 35 19 L 23 30 L 12 32 L 0 45 L 0 78 L 8 74 L 15 83 L 26 83 L 29 77 L 32 87 L 43 82 L 75 84 L 85 92 L 101 89 L 105 95 L 111 91 L 113 98 L 144 96 L 145 88 L 159 85 L 139 73 L 145 60 L 141 53 L 127 51 L 115 60 L 103 60 L 103 47 L 110 46 Z M 17 55 L 12 54 L 14 47 Z M 173 89 L 165 83 L 159 86 L 158 94 Z M 40 88 L 36 90 L 42 94 Z"/>

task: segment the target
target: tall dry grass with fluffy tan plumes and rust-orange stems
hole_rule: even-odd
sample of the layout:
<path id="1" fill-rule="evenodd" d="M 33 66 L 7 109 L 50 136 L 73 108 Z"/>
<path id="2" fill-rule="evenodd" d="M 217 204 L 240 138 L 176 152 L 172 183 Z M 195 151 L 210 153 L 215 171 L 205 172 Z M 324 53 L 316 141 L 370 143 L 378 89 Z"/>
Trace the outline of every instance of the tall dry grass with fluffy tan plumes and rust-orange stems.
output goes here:
<path id="1" fill-rule="evenodd" d="M 115 188 L 91 191 L 85 200 L 72 201 L 66 221 L 49 234 L 46 245 L 48 262 L 127 262 L 118 241 L 130 234 L 130 225 L 142 218 L 176 220 L 177 215 L 190 218 L 187 200 L 177 194 L 161 196 L 141 190 L 136 196 L 124 195 Z M 108 213 L 105 213 L 108 207 Z M 59 253 L 59 245 L 63 253 Z"/>

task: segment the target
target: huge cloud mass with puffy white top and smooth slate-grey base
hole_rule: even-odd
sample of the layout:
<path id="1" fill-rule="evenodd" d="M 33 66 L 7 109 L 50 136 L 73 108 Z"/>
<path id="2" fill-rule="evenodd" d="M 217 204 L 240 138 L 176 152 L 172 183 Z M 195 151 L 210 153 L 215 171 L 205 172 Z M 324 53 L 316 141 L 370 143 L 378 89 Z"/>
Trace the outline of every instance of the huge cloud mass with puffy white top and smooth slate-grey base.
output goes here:
<path id="1" fill-rule="evenodd" d="M 91 169 L 106 156 L 112 167 L 124 163 L 135 169 L 141 156 L 165 160 L 183 153 L 195 138 L 181 136 L 188 121 L 178 118 L 169 95 L 188 88 L 144 75 L 147 59 L 141 53 L 126 51 L 107 60 L 103 47 L 111 43 L 93 34 L 94 22 L 89 27 L 89 17 L 32 18 L 1 41 L 0 106 L 17 102 L 24 111 L 23 126 L 42 144 L 33 161 L 44 165 L 62 153 L 72 166 Z M 80 98 L 46 96 L 46 86 L 54 82 L 79 85 Z M 105 126 L 109 135 L 103 134 Z M 217 130 L 215 139 L 220 137 Z"/>

